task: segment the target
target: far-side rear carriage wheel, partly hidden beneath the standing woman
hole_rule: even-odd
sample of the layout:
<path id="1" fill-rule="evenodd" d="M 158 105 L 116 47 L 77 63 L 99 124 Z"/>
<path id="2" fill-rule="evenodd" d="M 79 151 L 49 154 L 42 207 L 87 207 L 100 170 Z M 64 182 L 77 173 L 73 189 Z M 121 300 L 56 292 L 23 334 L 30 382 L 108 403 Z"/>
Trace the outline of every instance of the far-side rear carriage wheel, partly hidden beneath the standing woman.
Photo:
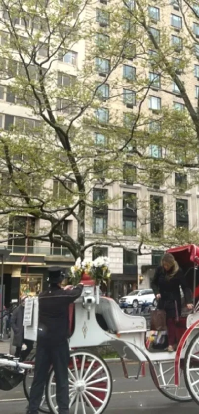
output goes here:
<path id="1" fill-rule="evenodd" d="M 176 402 L 192 401 L 192 397 L 185 385 L 183 370 L 180 372 L 180 386 L 176 387 L 174 384 L 174 361 L 158 361 L 154 365 L 159 379 L 158 389 L 165 397 Z M 153 378 L 151 367 L 150 373 Z"/>

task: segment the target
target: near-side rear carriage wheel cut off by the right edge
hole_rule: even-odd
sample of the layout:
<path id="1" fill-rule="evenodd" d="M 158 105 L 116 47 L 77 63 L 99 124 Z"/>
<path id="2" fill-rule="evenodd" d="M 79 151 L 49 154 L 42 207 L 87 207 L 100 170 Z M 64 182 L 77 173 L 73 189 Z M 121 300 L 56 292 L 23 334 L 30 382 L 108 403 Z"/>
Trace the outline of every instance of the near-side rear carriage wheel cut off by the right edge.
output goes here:
<path id="1" fill-rule="evenodd" d="M 184 377 L 190 395 L 199 404 L 199 333 L 186 350 Z"/>

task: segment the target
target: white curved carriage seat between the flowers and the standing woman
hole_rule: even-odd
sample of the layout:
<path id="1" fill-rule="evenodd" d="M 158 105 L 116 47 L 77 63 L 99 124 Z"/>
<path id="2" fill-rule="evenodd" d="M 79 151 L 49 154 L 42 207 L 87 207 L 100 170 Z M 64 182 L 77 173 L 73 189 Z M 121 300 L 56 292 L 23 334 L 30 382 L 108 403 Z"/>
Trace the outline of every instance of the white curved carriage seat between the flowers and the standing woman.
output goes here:
<path id="1" fill-rule="evenodd" d="M 123 313 L 119 305 L 111 298 L 101 297 L 99 305 L 96 305 L 96 313 L 102 315 L 108 330 L 113 333 L 145 332 L 147 330 L 145 318 Z"/>

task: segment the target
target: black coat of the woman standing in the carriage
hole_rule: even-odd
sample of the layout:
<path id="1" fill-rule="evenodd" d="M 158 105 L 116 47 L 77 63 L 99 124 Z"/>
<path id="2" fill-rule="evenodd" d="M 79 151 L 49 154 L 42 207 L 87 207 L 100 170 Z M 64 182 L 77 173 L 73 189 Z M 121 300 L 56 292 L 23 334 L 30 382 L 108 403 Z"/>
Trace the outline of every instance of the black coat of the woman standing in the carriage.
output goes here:
<path id="1" fill-rule="evenodd" d="M 191 291 L 186 286 L 185 276 L 180 268 L 170 279 L 167 279 L 166 272 L 162 266 L 159 266 L 156 269 L 152 280 L 152 289 L 155 295 L 158 293 L 161 295 L 161 299 L 158 302 L 158 308 L 165 309 L 167 317 L 176 317 L 181 314 L 180 286 L 184 293 L 185 302 L 191 303 Z M 177 304 L 178 315 L 176 315 L 175 302 Z"/>

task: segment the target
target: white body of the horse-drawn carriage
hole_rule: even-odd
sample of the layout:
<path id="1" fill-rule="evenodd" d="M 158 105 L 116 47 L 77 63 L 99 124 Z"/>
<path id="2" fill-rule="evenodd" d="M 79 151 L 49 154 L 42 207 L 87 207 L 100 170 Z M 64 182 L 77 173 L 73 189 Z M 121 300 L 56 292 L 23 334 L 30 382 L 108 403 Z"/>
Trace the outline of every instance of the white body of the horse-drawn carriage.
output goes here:
<path id="1" fill-rule="evenodd" d="M 83 304 L 85 298 L 92 298 L 92 303 Z M 24 326 L 24 338 L 37 341 L 38 331 L 38 298 L 27 299 L 33 301 L 33 317 L 29 326 Z M 145 345 L 147 325 L 143 316 L 132 316 L 123 313 L 119 305 L 111 298 L 100 297 L 99 304 L 95 287 L 84 285 L 82 294 L 75 301 L 75 327 L 70 338 L 70 348 L 86 348 L 112 343 L 123 358 L 134 359 L 140 362 L 166 361 L 175 359 L 175 352 L 150 352 Z M 89 309 L 88 309 L 89 308 Z M 108 327 L 103 330 L 96 320 L 96 313 L 100 314 Z M 199 320 L 199 314 L 194 313 L 187 318 L 187 327 Z M 181 357 L 183 358 L 187 346 L 193 335 L 190 335 L 183 347 Z"/>

